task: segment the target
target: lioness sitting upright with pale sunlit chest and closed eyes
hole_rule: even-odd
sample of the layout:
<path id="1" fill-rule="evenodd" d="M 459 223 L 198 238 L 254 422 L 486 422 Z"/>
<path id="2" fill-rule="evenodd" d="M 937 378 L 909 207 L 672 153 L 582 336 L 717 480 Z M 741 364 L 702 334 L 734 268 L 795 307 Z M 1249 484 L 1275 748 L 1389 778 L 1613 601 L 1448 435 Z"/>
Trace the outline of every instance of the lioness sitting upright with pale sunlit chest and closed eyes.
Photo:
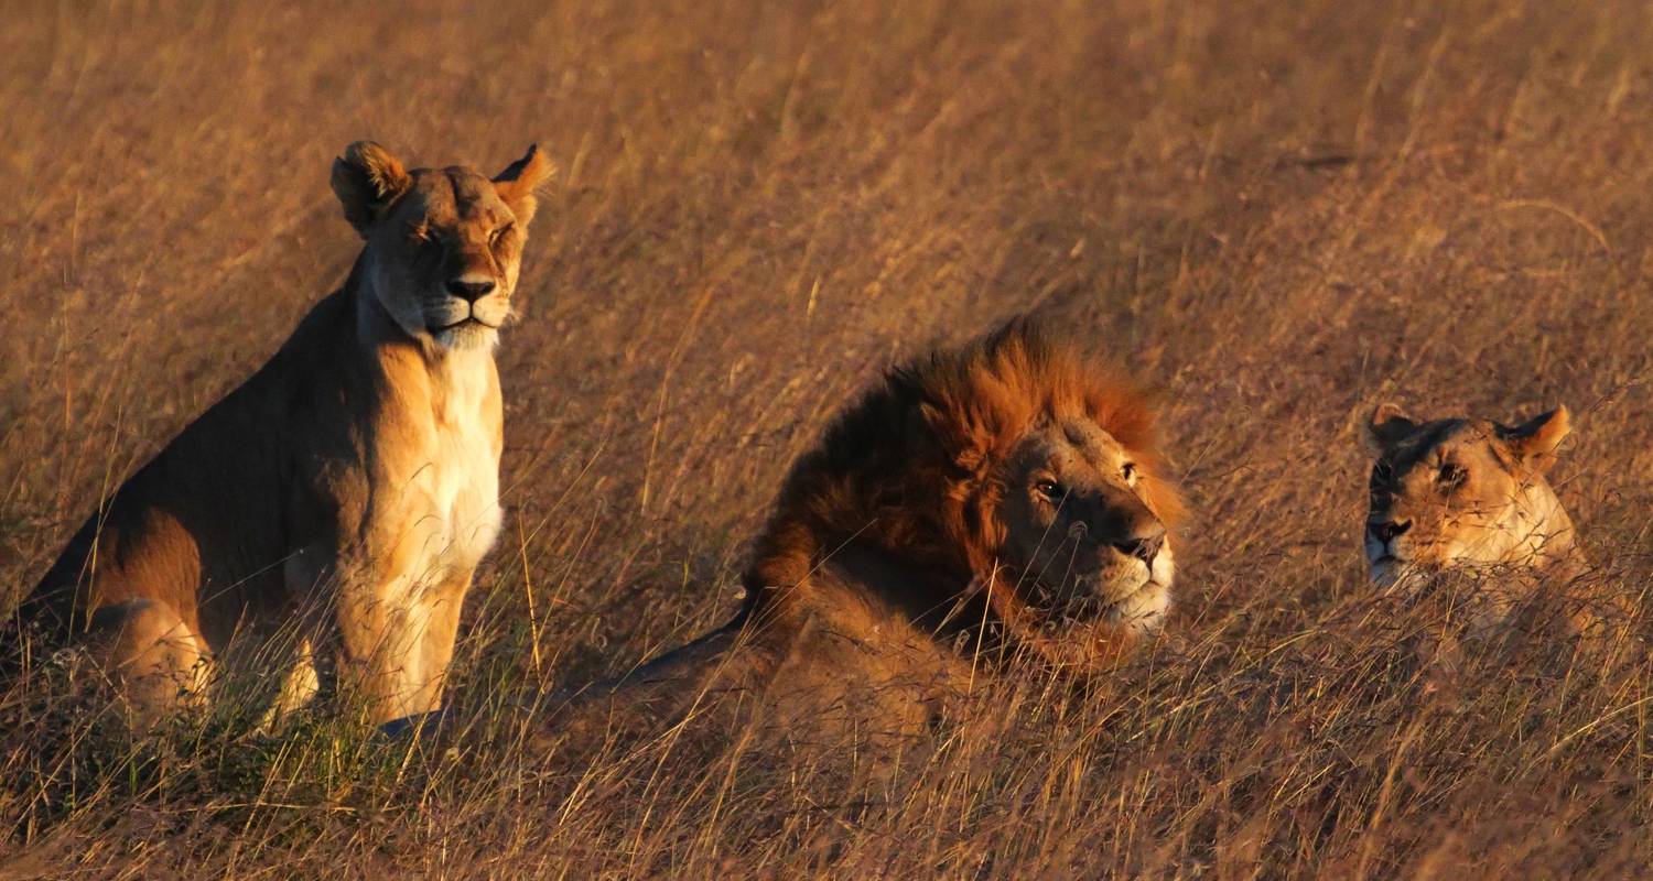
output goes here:
<path id="1" fill-rule="evenodd" d="M 534 147 L 494 179 L 345 149 L 344 288 L 104 501 L 23 633 L 86 636 L 145 717 L 223 669 L 271 681 L 273 716 L 332 668 L 375 721 L 433 709 L 499 531 L 494 345 L 550 172 Z"/>

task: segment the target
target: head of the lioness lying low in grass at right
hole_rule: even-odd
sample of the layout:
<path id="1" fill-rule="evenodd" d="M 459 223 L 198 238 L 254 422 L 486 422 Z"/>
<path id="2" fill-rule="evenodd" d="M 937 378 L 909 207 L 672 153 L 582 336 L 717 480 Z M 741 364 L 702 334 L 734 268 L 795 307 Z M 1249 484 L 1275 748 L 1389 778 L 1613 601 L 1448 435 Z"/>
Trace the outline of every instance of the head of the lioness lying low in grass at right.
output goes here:
<path id="1" fill-rule="evenodd" d="M 1534 491 L 1567 426 L 1565 408 L 1506 428 L 1420 423 L 1380 407 L 1367 426 L 1377 453 L 1364 541 L 1372 579 L 1392 587 L 1430 570 L 1519 562 L 1544 541 Z M 1542 499 L 1552 499 L 1547 488 Z"/>

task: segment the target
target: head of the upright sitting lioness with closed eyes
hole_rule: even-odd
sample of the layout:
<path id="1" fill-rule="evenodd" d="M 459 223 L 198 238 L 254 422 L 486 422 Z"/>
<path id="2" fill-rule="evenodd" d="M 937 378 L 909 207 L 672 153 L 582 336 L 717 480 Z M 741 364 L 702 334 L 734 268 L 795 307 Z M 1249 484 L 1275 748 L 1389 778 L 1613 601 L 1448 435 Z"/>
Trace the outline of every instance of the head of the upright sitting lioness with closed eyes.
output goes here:
<path id="1" fill-rule="evenodd" d="M 511 319 L 534 187 L 550 175 L 537 149 L 494 179 L 468 167 L 415 169 L 377 144 L 352 144 L 334 190 L 367 241 L 379 304 L 440 350 L 491 347 Z"/>

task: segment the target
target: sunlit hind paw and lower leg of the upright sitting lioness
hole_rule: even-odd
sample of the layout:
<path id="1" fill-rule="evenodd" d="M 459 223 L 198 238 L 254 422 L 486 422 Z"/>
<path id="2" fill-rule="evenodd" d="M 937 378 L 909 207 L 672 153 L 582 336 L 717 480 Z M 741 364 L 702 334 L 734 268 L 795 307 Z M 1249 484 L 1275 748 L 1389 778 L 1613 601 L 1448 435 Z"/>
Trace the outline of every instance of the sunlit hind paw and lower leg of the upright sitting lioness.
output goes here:
<path id="1" fill-rule="evenodd" d="M 205 702 L 207 643 L 167 603 L 127 600 L 99 608 L 94 641 L 141 724 Z"/>

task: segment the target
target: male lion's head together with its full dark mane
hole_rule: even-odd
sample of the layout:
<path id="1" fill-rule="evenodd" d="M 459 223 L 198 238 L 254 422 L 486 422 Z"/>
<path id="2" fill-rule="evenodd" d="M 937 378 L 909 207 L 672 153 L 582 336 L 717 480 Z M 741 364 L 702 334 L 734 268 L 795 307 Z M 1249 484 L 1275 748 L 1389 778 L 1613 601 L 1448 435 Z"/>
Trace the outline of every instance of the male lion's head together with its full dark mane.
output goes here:
<path id="1" fill-rule="evenodd" d="M 1165 620 L 1182 514 L 1149 397 L 1013 321 L 891 370 L 797 461 L 744 617 L 810 602 L 861 547 L 891 565 L 858 587 L 917 621 L 987 615 L 1050 661 L 1109 663 Z"/>

